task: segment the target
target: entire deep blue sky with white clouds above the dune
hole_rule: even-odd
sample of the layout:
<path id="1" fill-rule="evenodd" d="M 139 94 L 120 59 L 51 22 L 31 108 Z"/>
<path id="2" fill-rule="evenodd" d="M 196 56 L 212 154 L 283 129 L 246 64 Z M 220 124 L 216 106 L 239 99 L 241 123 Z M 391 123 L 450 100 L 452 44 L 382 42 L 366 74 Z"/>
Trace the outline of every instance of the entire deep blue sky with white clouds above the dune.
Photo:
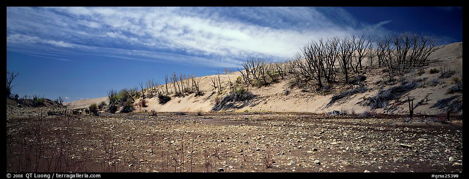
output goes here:
<path id="1" fill-rule="evenodd" d="M 67 101 L 165 74 L 206 76 L 247 57 L 285 61 L 310 40 L 412 31 L 462 42 L 451 7 L 8 7 L 13 93 Z"/>

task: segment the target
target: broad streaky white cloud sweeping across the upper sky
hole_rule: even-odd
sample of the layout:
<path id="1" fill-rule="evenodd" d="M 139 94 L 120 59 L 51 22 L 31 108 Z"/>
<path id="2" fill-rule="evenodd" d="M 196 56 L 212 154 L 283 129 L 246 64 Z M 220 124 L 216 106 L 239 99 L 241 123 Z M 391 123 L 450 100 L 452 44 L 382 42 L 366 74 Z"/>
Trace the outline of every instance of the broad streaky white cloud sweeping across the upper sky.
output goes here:
<path id="1" fill-rule="evenodd" d="M 234 67 L 248 56 L 286 59 L 309 40 L 389 22 L 363 24 L 341 8 L 9 7 L 7 45 Z"/>

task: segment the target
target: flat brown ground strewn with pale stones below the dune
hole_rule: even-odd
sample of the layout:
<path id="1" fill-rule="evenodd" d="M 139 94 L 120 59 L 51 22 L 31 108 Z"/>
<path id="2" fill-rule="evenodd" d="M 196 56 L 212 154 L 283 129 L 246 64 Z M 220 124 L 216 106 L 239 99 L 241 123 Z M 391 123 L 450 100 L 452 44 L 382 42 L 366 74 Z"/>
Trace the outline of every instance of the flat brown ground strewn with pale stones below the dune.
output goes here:
<path id="1" fill-rule="evenodd" d="M 7 106 L 7 172 L 462 172 L 461 120 L 37 110 Z"/>

